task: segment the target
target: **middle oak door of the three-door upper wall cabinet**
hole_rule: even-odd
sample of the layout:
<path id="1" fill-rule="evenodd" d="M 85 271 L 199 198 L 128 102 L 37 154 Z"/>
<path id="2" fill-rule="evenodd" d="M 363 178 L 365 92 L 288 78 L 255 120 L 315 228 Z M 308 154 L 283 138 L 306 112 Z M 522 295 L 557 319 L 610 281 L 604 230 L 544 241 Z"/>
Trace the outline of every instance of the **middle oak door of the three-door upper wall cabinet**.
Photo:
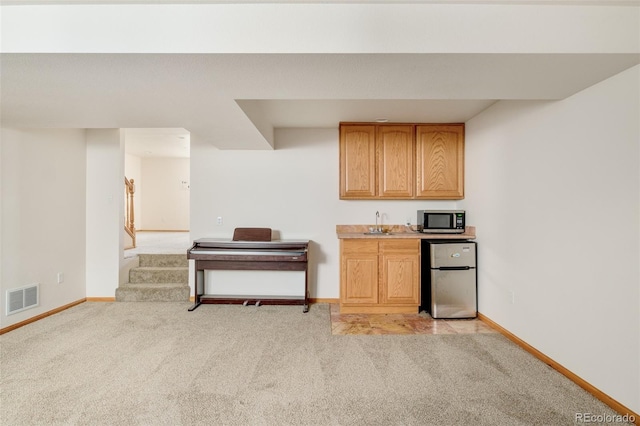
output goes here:
<path id="1" fill-rule="evenodd" d="M 413 125 L 378 126 L 378 195 L 411 198 L 414 192 Z"/>

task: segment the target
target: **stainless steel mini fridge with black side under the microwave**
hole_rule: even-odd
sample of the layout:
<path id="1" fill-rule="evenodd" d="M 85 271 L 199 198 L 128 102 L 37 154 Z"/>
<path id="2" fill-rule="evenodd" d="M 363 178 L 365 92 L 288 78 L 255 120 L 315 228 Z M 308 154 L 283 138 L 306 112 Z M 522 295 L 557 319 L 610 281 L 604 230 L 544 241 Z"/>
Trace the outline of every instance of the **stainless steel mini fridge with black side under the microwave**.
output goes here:
<path id="1" fill-rule="evenodd" d="M 476 243 L 425 241 L 425 245 L 423 259 L 426 253 L 429 256 L 428 269 L 423 265 L 422 270 L 423 308 L 433 318 L 477 317 Z"/>

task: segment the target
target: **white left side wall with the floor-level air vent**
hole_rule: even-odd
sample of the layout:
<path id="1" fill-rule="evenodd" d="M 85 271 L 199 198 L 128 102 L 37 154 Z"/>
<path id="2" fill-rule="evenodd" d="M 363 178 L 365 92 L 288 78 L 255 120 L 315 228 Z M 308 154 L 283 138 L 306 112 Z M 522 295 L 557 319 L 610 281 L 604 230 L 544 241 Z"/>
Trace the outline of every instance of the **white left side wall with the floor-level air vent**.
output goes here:
<path id="1" fill-rule="evenodd" d="M 86 149 L 79 129 L 2 129 L 1 140 L 6 327 L 85 297 Z M 6 316 L 6 291 L 34 283 L 40 305 Z"/>

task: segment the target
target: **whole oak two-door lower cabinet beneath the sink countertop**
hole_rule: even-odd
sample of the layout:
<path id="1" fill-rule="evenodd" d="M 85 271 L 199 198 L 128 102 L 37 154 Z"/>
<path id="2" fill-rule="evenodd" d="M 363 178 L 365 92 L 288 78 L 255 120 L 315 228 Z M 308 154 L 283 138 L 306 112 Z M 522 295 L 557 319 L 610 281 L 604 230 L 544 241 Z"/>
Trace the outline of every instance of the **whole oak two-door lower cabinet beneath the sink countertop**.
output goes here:
<path id="1" fill-rule="evenodd" d="M 341 313 L 418 313 L 419 239 L 340 240 Z"/>

